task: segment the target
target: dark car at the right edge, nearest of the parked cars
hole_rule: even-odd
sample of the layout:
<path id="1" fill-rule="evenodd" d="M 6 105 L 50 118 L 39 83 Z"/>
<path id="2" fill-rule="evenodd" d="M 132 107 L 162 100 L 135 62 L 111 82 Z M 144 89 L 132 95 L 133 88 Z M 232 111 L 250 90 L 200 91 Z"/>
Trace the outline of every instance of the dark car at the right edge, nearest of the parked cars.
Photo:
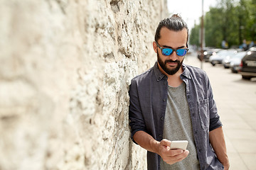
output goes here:
<path id="1" fill-rule="evenodd" d="M 247 51 L 247 55 L 242 58 L 240 67 L 239 73 L 242 74 L 242 79 L 256 77 L 256 47 L 251 47 Z"/>

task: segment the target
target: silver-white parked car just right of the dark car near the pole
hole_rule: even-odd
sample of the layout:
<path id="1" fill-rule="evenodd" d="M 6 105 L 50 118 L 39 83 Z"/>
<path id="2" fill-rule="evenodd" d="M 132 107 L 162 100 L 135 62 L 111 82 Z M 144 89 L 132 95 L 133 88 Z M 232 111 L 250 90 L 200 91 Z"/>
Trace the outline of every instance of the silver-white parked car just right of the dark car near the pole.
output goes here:
<path id="1" fill-rule="evenodd" d="M 228 57 L 230 55 L 235 55 L 236 53 L 238 53 L 237 50 L 220 50 L 219 52 L 217 52 L 216 55 L 211 55 L 209 62 L 210 64 L 212 64 L 213 66 L 215 66 L 215 64 L 222 64 L 223 60 L 225 59 L 225 57 Z"/>

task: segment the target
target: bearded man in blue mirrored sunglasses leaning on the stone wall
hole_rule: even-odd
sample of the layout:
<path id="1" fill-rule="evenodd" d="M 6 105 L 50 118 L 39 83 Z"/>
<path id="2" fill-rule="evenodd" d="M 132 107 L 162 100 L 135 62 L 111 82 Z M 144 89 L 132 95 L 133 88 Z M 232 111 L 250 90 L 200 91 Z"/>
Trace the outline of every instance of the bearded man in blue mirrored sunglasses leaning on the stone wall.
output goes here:
<path id="1" fill-rule="evenodd" d="M 148 169 L 228 169 L 209 79 L 183 64 L 188 27 L 180 16 L 159 23 L 153 47 L 156 64 L 129 89 L 132 140 L 148 150 Z M 188 140 L 187 150 L 170 149 L 174 140 Z"/>

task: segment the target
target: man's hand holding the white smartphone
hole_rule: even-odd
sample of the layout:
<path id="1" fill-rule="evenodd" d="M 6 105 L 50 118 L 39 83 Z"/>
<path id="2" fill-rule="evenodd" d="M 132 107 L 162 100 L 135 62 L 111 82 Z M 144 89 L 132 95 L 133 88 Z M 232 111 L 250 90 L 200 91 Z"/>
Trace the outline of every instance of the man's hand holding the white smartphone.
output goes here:
<path id="1" fill-rule="evenodd" d="M 161 140 L 157 148 L 157 154 L 159 154 L 167 164 L 175 164 L 188 156 L 188 150 L 184 151 L 182 149 L 170 149 L 170 145 L 171 141 Z"/>

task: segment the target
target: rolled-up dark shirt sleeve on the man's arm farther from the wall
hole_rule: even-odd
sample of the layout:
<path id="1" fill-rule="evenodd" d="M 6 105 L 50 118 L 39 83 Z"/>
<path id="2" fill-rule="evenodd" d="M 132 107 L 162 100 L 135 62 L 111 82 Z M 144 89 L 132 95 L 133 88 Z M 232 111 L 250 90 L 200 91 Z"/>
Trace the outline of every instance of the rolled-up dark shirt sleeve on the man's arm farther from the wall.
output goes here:
<path id="1" fill-rule="evenodd" d="M 205 74 L 206 75 L 206 74 Z M 216 103 L 213 99 L 213 89 L 210 86 L 210 81 L 208 76 L 206 75 L 206 82 L 208 85 L 208 98 L 209 98 L 209 111 L 210 111 L 210 127 L 209 131 L 215 130 L 222 126 L 220 121 L 220 116 L 218 115 Z"/>

